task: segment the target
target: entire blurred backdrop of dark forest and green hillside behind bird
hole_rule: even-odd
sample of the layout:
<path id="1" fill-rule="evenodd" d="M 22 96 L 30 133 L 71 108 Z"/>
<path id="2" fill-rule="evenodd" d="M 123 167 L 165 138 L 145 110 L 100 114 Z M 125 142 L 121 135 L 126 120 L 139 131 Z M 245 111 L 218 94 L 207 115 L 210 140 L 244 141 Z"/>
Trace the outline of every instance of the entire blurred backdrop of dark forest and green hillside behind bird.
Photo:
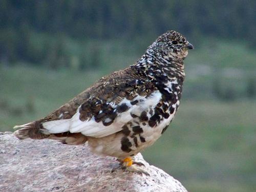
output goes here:
<path id="1" fill-rule="evenodd" d="M 188 191 L 256 191 L 256 1 L 0 2 L 0 131 L 135 62 L 167 30 L 195 50 L 179 112 L 144 158 Z"/>

